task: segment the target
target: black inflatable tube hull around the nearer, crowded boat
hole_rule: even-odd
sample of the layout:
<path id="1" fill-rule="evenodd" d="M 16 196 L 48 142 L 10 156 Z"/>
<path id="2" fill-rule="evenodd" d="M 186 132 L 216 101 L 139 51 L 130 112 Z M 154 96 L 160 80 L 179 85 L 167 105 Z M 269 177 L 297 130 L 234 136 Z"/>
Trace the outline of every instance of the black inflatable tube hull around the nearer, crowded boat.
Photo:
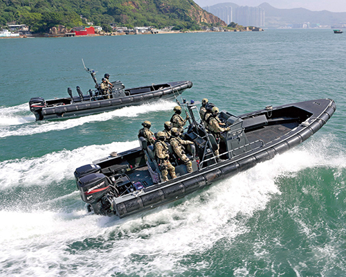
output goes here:
<path id="1" fill-rule="evenodd" d="M 266 126 L 268 126 L 268 120 L 271 121 L 271 129 L 273 132 L 275 128 L 281 128 L 277 131 L 282 132 L 282 135 L 278 139 L 271 139 L 266 141 L 265 136 L 263 136 L 262 145 L 246 150 L 241 154 L 237 154 L 226 161 L 221 161 L 219 163 L 214 163 L 206 168 L 200 168 L 190 174 L 185 174 L 177 177 L 176 179 L 170 179 L 169 181 L 163 182 L 161 184 L 156 184 L 149 186 L 148 188 L 143 188 L 141 190 L 135 191 L 134 193 L 129 193 L 121 197 L 115 197 L 112 199 L 113 213 L 118 215 L 118 217 L 125 217 L 127 215 L 132 215 L 141 211 L 149 210 L 150 208 L 155 208 L 156 206 L 161 206 L 165 203 L 172 202 L 181 197 L 185 197 L 200 188 L 209 186 L 215 181 L 225 179 L 237 175 L 237 173 L 244 170 L 252 168 L 257 163 L 273 159 L 277 154 L 282 154 L 288 150 L 291 150 L 296 145 L 299 145 L 303 141 L 309 139 L 310 136 L 315 134 L 327 120 L 331 118 L 336 110 L 336 105 L 333 100 L 330 99 L 320 99 L 311 100 L 305 102 L 299 102 L 291 105 L 282 105 L 280 107 L 274 107 L 271 109 L 263 109 L 260 111 L 254 111 L 252 113 L 244 114 L 239 116 L 248 124 L 248 137 L 251 139 L 251 132 L 255 134 L 265 134 Z M 302 119 L 293 123 L 293 120 L 287 117 L 285 118 L 283 111 L 291 111 L 291 114 L 300 113 Z M 304 111 L 304 113 L 302 112 Z M 271 118 L 271 114 L 276 114 L 275 118 Z M 283 116 L 281 116 L 281 114 Z M 266 116 L 265 120 L 263 116 Z M 257 122 L 253 123 L 253 118 L 257 118 Z M 262 123 L 260 122 L 260 119 Z M 285 120 L 283 124 L 278 124 L 280 120 Z M 264 123 L 266 121 L 266 123 Z M 260 126 L 259 125 L 263 125 Z M 293 125 L 292 125 L 293 124 Z M 256 126 L 255 126 L 256 125 Z M 286 130 L 284 130 L 286 126 Z M 291 126 L 290 128 L 287 128 Z M 257 128 L 255 131 L 251 131 L 251 128 Z M 192 140 L 193 137 L 191 137 Z M 256 139 L 253 139 L 255 143 Z M 198 143 L 198 140 L 194 140 Z M 245 145 L 246 146 L 246 145 Z M 239 150 L 235 149 L 235 151 Z M 141 148 L 136 148 L 134 150 L 129 150 L 129 152 L 121 153 L 120 156 L 126 157 L 127 154 L 140 153 L 143 152 Z M 105 165 L 112 163 L 112 157 L 107 157 L 98 161 L 94 161 L 96 165 L 103 168 Z M 200 164 L 201 166 L 201 164 Z"/>

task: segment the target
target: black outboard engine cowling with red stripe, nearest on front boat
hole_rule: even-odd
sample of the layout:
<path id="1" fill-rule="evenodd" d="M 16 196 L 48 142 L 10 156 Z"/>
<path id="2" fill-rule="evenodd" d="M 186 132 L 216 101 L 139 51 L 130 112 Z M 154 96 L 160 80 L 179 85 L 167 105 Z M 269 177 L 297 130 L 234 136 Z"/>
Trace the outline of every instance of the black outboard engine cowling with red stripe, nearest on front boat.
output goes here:
<path id="1" fill-rule="evenodd" d="M 88 204 L 98 202 L 109 190 L 107 177 L 102 173 L 92 173 L 80 178 L 77 186 L 80 197 Z"/>

